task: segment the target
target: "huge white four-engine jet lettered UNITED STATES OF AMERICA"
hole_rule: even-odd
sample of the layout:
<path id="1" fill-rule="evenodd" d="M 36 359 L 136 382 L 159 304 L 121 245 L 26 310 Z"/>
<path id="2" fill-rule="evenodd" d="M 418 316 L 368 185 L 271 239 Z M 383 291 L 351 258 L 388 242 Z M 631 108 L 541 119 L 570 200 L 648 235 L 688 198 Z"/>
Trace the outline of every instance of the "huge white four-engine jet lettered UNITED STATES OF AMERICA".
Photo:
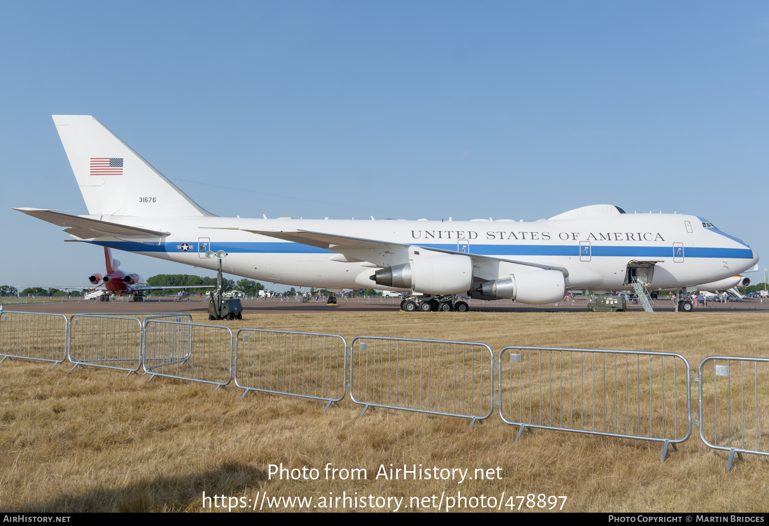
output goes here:
<path id="1" fill-rule="evenodd" d="M 405 310 L 466 311 L 467 298 L 528 304 L 565 291 L 693 291 L 758 255 L 695 215 L 591 205 L 517 222 L 222 218 L 205 211 L 90 115 L 53 115 L 88 215 L 16 208 L 73 240 L 285 285 L 411 293 Z M 680 307 L 691 310 L 686 299 Z"/>

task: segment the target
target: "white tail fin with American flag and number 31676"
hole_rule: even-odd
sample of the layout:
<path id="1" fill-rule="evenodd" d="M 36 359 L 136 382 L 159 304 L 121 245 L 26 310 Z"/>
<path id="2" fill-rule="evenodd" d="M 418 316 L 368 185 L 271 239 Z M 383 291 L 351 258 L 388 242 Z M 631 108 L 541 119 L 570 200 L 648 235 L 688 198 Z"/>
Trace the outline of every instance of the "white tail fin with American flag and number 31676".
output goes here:
<path id="1" fill-rule="evenodd" d="M 89 215 L 213 216 L 91 115 L 52 115 Z"/>

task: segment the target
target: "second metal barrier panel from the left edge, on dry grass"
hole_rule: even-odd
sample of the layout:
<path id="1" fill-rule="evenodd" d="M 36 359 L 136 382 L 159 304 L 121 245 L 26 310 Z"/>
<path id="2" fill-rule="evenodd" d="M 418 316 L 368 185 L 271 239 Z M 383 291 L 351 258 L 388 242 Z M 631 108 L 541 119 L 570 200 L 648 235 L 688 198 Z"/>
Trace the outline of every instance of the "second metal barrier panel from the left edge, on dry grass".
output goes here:
<path id="1" fill-rule="evenodd" d="M 141 368 L 141 320 L 129 316 L 75 314 L 69 319 L 69 361 L 127 371 Z M 72 371 L 70 369 L 70 371 Z"/>

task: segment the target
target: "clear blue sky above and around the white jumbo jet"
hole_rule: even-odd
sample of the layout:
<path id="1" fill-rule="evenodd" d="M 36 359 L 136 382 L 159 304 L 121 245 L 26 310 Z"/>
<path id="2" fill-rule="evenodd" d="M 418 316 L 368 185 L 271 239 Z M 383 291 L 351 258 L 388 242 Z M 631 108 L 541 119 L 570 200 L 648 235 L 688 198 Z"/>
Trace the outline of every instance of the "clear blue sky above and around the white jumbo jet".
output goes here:
<path id="1" fill-rule="evenodd" d="M 767 58 L 765 2 L 6 2 L 0 285 L 102 270 L 10 209 L 87 213 L 52 114 L 94 115 L 217 215 L 609 203 L 701 215 L 769 258 Z"/>

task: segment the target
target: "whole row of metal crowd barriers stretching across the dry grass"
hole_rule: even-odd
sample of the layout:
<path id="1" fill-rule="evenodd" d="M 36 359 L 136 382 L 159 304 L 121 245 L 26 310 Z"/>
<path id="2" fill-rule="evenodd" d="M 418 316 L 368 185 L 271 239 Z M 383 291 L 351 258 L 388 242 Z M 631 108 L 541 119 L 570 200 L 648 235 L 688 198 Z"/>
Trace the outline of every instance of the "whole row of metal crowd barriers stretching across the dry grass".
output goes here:
<path id="1" fill-rule="evenodd" d="M 150 376 L 235 385 L 327 401 L 345 397 L 392 408 L 482 421 L 494 401 L 501 419 L 526 428 L 657 441 L 690 438 L 708 448 L 769 456 L 769 358 L 709 356 L 698 368 L 698 421 L 691 366 L 672 352 L 511 345 L 494 360 L 472 341 L 356 336 L 191 323 L 185 313 L 0 311 L 5 358 L 112 368 Z M 708 363 L 713 362 L 713 367 Z M 53 367 L 52 365 L 52 367 Z M 496 375 L 497 391 L 494 393 Z M 325 411 L 324 409 L 324 411 Z"/>

